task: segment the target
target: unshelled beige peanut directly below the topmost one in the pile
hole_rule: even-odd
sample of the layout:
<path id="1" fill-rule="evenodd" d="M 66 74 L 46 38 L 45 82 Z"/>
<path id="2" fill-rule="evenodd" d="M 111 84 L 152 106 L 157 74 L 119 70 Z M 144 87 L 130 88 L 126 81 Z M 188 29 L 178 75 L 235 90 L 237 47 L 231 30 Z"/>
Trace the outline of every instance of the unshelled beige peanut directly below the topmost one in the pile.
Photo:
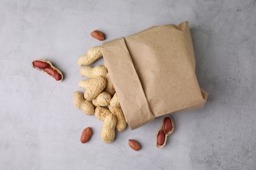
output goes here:
<path id="1" fill-rule="evenodd" d="M 106 76 L 108 69 L 103 65 L 97 65 L 96 67 L 81 67 L 80 75 L 87 78 L 95 78 L 96 76 Z"/>

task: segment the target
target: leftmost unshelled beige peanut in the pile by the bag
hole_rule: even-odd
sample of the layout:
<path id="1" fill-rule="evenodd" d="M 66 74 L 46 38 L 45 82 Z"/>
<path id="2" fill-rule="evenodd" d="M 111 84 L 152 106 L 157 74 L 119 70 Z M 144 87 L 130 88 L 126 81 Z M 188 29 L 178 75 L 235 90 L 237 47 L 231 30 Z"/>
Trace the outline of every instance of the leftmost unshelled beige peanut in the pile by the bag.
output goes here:
<path id="1" fill-rule="evenodd" d="M 93 115 L 95 113 L 95 107 L 93 107 L 93 104 L 90 101 L 83 98 L 83 93 L 81 92 L 74 93 L 74 106 L 87 115 Z"/>

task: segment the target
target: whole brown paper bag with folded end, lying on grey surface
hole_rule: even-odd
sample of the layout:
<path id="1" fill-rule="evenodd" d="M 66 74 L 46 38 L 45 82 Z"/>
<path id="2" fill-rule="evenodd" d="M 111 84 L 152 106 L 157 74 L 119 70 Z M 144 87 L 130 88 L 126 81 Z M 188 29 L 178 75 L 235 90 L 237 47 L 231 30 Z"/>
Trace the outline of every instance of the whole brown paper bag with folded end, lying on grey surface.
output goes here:
<path id="1" fill-rule="evenodd" d="M 199 109 L 207 100 L 195 75 L 188 22 L 104 42 L 101 51 L 131 129 L 171 112 Z"/>

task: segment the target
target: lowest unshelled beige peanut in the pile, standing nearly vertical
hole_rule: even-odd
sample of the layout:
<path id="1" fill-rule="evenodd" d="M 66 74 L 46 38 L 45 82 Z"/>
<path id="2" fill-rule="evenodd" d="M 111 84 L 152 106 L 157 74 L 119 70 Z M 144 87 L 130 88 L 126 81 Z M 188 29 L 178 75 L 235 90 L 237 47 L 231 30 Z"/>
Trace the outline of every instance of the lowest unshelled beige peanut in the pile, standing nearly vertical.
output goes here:
<path id="1" fill-rule="evenodd" d="M 112 143 L 116 137 L 116 116 L 114 114 L 108 114 L 103 120 L 102 131 L 100 133 L 101 140 L 104 143 Z"/>

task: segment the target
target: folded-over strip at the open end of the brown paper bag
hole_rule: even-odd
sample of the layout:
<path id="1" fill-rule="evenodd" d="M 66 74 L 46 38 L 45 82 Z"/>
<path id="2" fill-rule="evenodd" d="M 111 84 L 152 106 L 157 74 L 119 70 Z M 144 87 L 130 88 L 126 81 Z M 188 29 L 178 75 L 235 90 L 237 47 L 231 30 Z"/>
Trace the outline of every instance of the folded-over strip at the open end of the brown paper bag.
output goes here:
<path id="1" fill-rule="evenodd" d="M 104 42 L 100 50 L 129 127 L 136 129 L 154 120 L 125 39 Z"/>

